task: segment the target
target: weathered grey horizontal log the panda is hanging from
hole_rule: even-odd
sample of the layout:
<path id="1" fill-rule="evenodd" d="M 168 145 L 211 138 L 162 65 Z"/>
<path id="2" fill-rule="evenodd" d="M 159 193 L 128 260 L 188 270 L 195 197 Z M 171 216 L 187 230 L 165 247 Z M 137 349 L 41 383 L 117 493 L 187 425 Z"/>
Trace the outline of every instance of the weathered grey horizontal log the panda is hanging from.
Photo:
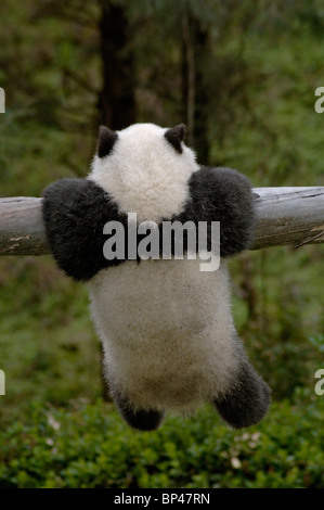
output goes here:
<path id="1" fill-rule="evenodd" d="M 257 222 L 251 250 L 324 242 L 324 187 L 255 188 Z M 42 199 L 0 199 L 0 255 L 50 253 Z"/>

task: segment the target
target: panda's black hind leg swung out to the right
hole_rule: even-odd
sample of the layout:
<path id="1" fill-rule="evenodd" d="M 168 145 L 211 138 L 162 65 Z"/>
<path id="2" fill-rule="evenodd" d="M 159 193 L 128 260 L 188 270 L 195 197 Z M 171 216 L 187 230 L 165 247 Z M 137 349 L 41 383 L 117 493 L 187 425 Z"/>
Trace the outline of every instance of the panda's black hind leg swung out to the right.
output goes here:
<path id="1" fill-rule="evenodd" d="M 234 429 L 251 426 L 259 423 L 268 411 L 270 388 L 245 358 L 231 386 L 212 404 L 221 418 Z"/>

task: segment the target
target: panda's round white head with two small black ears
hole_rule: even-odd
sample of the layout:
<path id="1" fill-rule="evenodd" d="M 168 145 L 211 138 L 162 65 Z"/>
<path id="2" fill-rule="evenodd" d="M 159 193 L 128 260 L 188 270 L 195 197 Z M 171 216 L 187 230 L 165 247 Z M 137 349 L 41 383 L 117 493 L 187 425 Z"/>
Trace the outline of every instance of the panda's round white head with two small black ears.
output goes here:
<path id="1" fill-rule="evenodd" d="M 160 221 L 180 214 L 189 199 L 189 180 L 198 169 L 183 139 L 185 127 L 134 124 L 120 131 L 100 128 L 89 179 L 100 184 L 122 213 L 138 221 Z"/>

